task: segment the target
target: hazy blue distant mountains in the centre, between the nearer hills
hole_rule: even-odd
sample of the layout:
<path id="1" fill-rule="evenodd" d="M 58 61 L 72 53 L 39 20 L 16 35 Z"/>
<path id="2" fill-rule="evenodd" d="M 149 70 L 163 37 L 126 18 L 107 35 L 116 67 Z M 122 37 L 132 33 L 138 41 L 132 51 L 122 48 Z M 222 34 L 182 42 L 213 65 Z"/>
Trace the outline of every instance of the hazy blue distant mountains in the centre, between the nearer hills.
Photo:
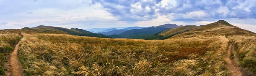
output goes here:
<path id="1" fill-rule="evenodd" d="M 147 39 L 146 37 L 148 35 L 160 33 L 164 30 L 169 30 L 172 28 L 180 27 L 180 26 L 178 26 L 177 24 L 163 24 L 156 27 L 128 27 L 122 30 L 112 30 L 109 32 L 101 33 L 101 34 L 110 35 L 112 38 L 118 37 L 118 38 Z"/>

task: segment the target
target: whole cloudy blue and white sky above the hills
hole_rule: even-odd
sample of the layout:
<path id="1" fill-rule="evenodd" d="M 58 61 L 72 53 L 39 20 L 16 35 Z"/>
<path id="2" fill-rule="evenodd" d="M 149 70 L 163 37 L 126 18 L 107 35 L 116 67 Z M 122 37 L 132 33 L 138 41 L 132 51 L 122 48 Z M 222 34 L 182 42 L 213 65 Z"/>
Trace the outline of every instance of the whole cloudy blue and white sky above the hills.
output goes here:
<path id="1" fill-rule="evenodd" d="M 225 20 L 256 33 L 256 0 L 0 0 L 0 29 L 205 25 Z"/>

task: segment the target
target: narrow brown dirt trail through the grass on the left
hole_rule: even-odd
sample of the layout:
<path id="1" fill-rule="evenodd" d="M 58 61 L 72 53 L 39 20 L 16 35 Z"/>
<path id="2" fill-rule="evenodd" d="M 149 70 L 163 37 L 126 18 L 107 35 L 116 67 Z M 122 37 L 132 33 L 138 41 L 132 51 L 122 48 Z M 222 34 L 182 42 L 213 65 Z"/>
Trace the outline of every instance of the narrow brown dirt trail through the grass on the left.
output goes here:
<path id="1" fill-rule="evenodd" d="M 22 65 L 19 62 L 18 58 L 18 49 L 21 41 L 15 46 L 15 49 L 8 57 L 8 63 L 6 67 L 9 71 L 6 72 L 6 76 L 25 76 Z"/>

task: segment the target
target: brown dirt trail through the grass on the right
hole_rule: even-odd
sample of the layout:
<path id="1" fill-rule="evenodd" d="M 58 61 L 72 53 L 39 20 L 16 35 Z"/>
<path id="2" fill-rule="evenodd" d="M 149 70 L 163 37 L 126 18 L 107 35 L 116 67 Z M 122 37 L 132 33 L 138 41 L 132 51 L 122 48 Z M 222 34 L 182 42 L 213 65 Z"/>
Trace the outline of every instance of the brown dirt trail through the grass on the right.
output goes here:
<path id="1" fill-rule="evenodd" d="M 227 47 L 227 54 L 224 59 L 227 62 L 226 67 L 230 71 L 230 76 L 242 76 L 243 74 L 241 72 L 241 69 L 238 66 L 234 65 L 234 63 L 230 59 L 231 50 L 232 50 L 232 43 L 230 43 L 229 46 Z"/>

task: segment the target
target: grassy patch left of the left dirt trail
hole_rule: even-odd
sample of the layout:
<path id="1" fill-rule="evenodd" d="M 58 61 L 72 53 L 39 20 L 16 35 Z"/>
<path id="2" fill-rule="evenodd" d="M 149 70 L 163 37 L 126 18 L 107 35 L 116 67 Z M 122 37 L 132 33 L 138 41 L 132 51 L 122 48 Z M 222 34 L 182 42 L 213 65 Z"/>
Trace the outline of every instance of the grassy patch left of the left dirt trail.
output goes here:
<path id="1" fill-rule="evenodd" d="M 15 31 L 0 30 L 0 76 L 5 75 L 7 69 L 4 65 L 7 62 L 7 55 L 12 52 L 20 38 L 20 35 Z"/>

